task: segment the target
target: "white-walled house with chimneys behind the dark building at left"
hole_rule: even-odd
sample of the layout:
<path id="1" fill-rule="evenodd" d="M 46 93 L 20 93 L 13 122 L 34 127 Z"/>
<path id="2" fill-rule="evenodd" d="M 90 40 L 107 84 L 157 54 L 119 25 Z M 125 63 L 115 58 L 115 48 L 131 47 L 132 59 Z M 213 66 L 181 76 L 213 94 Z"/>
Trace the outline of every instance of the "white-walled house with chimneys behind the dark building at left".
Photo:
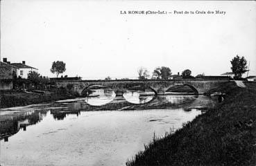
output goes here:
<path id="1" fill-rule="evenodd" d="M 3 62 L 7 63 L 6 57 L 3 58 Z M 38 71 L 37 68 L 26 65 L 25 61 L 22 61 L 22 63 L 11 63 L 11 65 L 17 67 L 17 72 L 16 72 L 17 77 L 28 78 L 28 73 L 32 71 L 35 71 L 35 72 Z"/>

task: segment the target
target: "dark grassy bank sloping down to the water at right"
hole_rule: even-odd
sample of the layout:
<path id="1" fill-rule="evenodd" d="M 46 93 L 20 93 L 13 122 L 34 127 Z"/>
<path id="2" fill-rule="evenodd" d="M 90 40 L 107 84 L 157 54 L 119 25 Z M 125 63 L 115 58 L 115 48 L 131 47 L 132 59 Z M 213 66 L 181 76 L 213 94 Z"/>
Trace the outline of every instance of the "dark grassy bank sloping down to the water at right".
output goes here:
<path id="1" fill-rule="evenodd" d="M 126 165 L 256 165 L 256 86 L 226 84 L 225 101 L 145 146 Z"/>

